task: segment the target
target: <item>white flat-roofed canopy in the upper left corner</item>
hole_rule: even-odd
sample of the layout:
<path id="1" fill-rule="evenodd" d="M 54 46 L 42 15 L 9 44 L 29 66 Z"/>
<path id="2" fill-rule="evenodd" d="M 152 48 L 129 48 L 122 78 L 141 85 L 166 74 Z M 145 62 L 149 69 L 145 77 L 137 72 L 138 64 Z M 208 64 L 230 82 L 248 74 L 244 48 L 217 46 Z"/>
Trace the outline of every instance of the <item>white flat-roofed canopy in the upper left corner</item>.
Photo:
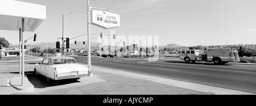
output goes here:
<path id="1" fill-rule="evenodd" d="M 14 0 L 0 1 L 0 30 L 22 28 L 24 18 L 25 32 L 34 32 L 46 20 L 46 6 Z"/>

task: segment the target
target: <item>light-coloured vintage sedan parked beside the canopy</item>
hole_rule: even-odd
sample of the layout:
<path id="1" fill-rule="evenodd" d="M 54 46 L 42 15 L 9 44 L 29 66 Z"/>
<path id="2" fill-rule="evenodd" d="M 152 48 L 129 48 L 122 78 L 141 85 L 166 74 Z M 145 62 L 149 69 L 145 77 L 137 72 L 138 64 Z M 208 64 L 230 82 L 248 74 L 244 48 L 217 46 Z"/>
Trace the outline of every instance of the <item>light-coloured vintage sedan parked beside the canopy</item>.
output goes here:
<path id="1" fill-rule="evenodd" d="M 50 80 L 77 79 L 90 76 L 92 69 L 76 63 L 71 57 L 44 58 L 42 63 L 34 65 L 35 74 L 42 75 Z"/>

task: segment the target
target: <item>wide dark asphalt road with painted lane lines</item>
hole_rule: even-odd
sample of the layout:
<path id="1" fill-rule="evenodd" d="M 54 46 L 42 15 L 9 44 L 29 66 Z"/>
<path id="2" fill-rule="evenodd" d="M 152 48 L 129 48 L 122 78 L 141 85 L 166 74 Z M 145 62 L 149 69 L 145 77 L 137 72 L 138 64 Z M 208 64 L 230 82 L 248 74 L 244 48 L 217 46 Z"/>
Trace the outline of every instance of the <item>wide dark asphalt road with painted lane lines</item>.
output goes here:
<path id="1" fill-rule="evenodd" d="M 80 64 L 87 64 L 88 61 L 86 56 L 73 56 L 73 58 Z M 149 62 L 145 59 L 92 57 L 92 67 L 93 65 L 256 94 L 255 65 L 188 64 L 177 61 Z"/>

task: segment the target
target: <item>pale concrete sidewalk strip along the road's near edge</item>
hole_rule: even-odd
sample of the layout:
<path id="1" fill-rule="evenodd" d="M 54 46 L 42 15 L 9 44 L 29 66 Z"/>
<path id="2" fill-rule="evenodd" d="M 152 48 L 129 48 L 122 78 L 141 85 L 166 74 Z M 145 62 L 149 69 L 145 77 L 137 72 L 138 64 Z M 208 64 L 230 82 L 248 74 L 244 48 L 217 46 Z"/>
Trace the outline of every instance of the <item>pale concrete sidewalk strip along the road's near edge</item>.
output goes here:
<path id="1" fill-rule="evenodd" d="M 121 70 L 115 70 L 115 69 L 108 69 L 108 71 L 105 71 L 105 68 L 100 67 L 94 67 L 96 70 L 106 73 L 113 73 L 118 74 L 121 76 L 131 77 L 131 78 L 139 78 L 142 80 L 148 80 L 152 82 L 162 83 L 164 85 L 170 85 L 175 87 L 180 87 L 183 89 L 189 89 L 189 90 L 195 90 L 210 94 L 217 94 L 217 95 L 254 95 L 249 92 L 243 92 L 243 91 L 236 91 L 236 90 L 229 90 L 224 89 L 221 87 L 214 87 L 214 86 L 207 86 L 207 85 L 201 85 L 197 83 L 191 83 L 191 82 L 184 82 L 184 81 L 177 81 L 177 80 L 171 80 L 167 78 L 160 78 L 160 77 L 154 77 L 154 76 L 148 76 L 143 74 L 137 74 L 137 73 L 131 73 L 131 72 L 123 72 Z"/>

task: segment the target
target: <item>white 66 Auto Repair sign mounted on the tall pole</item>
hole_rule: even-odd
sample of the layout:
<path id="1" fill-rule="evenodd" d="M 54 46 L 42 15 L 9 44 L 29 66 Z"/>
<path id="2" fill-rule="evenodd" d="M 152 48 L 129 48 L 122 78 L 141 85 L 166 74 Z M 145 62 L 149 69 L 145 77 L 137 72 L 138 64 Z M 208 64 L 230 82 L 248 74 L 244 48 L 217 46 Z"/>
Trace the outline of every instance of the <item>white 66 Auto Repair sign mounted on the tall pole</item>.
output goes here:
<path id="1" fill-rule="evenodd" d="M 92 11 L 92 24 L 104 29 L 120 26 L 120 15 L 106 11 Z"/>

